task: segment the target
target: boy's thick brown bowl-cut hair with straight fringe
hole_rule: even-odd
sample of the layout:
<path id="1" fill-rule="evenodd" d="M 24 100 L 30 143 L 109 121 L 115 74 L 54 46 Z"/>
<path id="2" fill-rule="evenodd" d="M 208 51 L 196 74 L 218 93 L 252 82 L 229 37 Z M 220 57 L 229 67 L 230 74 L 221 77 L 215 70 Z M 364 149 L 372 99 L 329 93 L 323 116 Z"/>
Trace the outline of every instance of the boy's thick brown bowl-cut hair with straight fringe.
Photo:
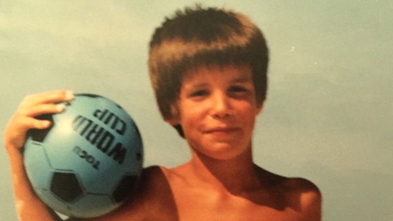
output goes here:
<path id="1" fill-rule="evenodd" d="M 253 70 L 257 104 L 266 98 L 268 48 L 261 30 L 245 15 L 218 8 L 185 8 L 156 28 L 149 73 L 165 120 L 177 114 L 183 75 L 191 68 L 246 64 Z M 181 126 L 175 126 L 181 129 Z M 181 133 L 181 131 L 179 131 Z M 181 133 L 182 135 L 182 133 Z"/>

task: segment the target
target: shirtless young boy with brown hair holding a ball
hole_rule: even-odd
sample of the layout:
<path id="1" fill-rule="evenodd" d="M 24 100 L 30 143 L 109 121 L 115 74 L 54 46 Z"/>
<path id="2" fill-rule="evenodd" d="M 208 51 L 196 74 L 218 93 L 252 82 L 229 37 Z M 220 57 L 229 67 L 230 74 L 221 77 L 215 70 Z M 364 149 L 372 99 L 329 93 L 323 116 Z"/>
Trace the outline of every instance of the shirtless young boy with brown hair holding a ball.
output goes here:
<path id="1" fill-rule="evenodd" d="M 187 140 L 189 162 L 144 169 L 140 189 L 120 209 L 93 220 L 320 220 L 318 188 L 253 163 L 255 118 L 266 97 L 268 48 L 247 17 L 217 8 L 186 8 L 156 29 L 149 73 L 166 122 Z M 73 99 L 60 90 L 30 95 L 6 129 L 20 220 L 53 220 L 31 191 L 19 149 L 35 119 Z"/>

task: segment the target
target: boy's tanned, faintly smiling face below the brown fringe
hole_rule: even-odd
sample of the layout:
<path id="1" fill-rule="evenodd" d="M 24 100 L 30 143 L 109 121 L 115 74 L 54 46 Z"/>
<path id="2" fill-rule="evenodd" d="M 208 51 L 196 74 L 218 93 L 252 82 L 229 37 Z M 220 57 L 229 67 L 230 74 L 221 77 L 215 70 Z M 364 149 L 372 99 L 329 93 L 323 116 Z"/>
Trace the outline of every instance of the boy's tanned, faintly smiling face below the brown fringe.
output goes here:
<path id="1" fill-rule="evenodd" d="M 248 66 L 201 66 L 186 73 L 177 103 L 180 124 L 190 146 L 217 160 L 229 160 L 250 148 L 255 117 L 262 110 Z"/>

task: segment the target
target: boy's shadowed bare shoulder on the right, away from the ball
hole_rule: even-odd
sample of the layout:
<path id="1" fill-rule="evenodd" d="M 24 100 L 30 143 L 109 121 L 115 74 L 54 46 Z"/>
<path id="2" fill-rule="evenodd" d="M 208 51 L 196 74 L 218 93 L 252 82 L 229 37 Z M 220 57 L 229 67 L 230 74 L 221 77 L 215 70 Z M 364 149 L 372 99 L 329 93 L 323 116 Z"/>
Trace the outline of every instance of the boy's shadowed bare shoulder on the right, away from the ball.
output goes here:
<path id="1" fill-rule="evenodd" d="M 321 220 L 322 195 L 318 186 L 302 177 L 284 177 L 264 169 L 259 172 L 265 186 L 277 196 L 281 208 L 291 208 L 302 220 Z"/>

